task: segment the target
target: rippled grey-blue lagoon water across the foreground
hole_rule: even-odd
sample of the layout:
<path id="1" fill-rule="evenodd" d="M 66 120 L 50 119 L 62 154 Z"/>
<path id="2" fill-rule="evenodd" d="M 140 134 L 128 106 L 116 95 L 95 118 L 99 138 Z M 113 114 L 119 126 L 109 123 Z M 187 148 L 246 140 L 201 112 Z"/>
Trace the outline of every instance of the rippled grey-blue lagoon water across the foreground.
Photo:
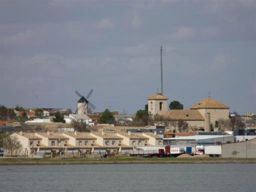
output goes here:
<path id="1" fill-rule="evenodd" d="M 256 191 L 255 164 L 0 166 L 0 191 Z"/>

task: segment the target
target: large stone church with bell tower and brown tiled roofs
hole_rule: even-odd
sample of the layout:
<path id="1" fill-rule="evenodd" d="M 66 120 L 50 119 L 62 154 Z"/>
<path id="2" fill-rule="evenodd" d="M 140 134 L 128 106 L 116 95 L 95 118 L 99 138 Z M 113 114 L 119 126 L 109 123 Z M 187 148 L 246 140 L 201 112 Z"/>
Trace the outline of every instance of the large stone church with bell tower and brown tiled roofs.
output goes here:
<path id="1" fill-rule="evenodd" d="M 156 93 L 147 98 L 148 113 L 159 114 L 170 122 L 185 121 L 188 130 L 210 131 L 219 119 L 229 118 L 229 106 L 210 97 L 192 105 L 189 109 L 172 109 L 168 111 L 168 98 L 161 93 Z M 168 128 L 175 129 L 172 125 Z"/>

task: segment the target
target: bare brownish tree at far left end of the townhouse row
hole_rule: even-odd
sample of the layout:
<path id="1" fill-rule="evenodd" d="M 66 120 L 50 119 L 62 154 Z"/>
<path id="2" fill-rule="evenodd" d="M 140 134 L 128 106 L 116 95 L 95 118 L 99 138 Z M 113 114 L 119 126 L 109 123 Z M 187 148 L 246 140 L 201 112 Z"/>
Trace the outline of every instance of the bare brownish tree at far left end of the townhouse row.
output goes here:
<path id="1" fill-rule="evenodd" d="M 7 136 L 3 139 L 3 147 L 7 151 L 7 155 L 17 154 L 21 148 L 21 144 L 16 136 Z"/>

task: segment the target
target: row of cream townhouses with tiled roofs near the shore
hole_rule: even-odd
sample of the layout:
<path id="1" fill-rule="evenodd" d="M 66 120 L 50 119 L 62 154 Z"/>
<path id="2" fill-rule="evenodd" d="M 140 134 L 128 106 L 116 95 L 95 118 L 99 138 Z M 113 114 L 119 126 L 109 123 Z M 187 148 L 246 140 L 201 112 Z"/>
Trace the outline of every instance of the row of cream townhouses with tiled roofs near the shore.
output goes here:
<path id="1" fill-rule="evenodd" d="M 133 147 L 162 145 L 163 139 L 156 132 L 19 132 L 13 133 L 22 147 L 20 155 L 45 152 L 120 153 Z"/>

